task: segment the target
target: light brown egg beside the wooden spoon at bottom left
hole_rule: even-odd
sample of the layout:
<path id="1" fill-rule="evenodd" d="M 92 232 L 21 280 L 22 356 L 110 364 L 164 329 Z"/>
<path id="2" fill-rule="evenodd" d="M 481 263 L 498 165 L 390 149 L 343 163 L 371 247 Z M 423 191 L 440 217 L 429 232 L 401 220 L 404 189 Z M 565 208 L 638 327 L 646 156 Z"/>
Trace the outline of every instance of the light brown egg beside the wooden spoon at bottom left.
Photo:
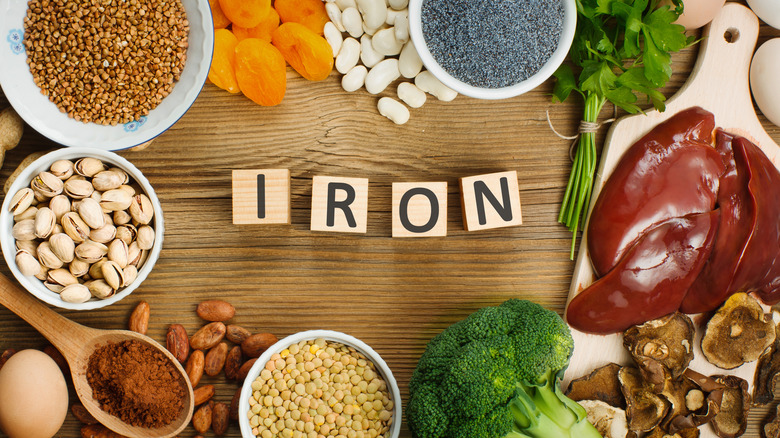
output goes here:
<path id="1" fill-rule="evenodd" d="M 0 368 L 0 429 L 9 438 L 51 438 L 68 413 L 68 385 L 48 355 L 22 350 Z"/>

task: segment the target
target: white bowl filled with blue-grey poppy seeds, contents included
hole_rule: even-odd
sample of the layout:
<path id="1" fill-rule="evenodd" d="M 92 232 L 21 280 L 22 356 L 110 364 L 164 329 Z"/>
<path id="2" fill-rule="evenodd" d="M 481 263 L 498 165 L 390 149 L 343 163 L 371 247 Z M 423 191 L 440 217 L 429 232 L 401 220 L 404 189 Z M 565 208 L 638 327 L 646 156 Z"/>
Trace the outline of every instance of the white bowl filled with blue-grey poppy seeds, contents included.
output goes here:
<path id="1" fill-rule="evenodd" d="M 574 39 L 574 0 L 410 0 L 425 67 L 455 91 L 504 99 L 538 87 Z"/>

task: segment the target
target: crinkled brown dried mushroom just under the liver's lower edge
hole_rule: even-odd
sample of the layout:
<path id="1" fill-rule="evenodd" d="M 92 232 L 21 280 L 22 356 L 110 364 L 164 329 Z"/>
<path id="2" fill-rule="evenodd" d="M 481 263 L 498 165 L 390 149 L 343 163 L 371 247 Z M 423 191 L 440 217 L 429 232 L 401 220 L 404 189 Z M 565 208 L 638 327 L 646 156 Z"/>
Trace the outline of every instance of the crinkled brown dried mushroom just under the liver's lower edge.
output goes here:
<path id="1" fill-rule="evenodd" d="M 675 312 L 637 325 L 623 334 L 623 345 L 653 385 L 663 386 L 666 375 L 678 378 L 693 360 L 693 322 Z"/>

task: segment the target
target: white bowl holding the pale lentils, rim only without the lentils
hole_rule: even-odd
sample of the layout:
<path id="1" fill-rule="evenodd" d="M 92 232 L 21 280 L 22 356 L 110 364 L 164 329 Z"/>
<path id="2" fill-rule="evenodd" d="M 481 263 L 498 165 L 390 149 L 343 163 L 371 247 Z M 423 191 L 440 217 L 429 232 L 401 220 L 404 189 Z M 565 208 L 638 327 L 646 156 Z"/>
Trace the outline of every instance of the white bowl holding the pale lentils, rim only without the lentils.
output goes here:
<path id="1" fill-rule="evenodd" d="M 271 356 L 281 352 L 292 344 L 317 338 L 324 338 L 327 341 L 339 342 L 349 347 L 354 347 L 374 363 L 376 370 L 387 383 L 387 391 L 390 392 L 390 397 L 393 399 L 393 424 L 390 426 L 390 431 L 385 436 L 387 438 L 398 438 L 398 435 L 401 433 L 402 419 L 401 393 L 398 390 L 398 383 L 395 381 L 395 377 L 393 377 L 393 372 L 390 371 L 390 367 L 387 366 L 387 363 L 376 353 L 376 351 L 363 341 L 350 335 L 331 330 L 309 330 L 290 335 L 272 345 L 257 359 L 257 362 L 255 362 L 249 370 L 246 380 L 244 380 L 244 384 L 241 388 L 241 398 L 238 402 L 238 422 L 241 426 L 241 436 L 244 438 L 256 438 L 255 435 L 252 434 L 252 426 L 249 425 L 249 417 L 247 416 L 249 413 L 249 397 L 252 396 L 252 382 L 260 375 L 260 371 L 265 368 L 265 364 L 268 363 Z"/>

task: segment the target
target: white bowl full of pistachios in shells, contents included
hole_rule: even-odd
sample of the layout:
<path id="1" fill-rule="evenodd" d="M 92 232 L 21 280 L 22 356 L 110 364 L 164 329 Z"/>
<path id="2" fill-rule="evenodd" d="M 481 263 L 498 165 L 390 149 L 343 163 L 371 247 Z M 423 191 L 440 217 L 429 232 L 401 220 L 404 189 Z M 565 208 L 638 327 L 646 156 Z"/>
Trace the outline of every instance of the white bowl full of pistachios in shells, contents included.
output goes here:
<path id="1" fill-rule="evenodd" d="M 0 247 L 19 283 L 53 306 L 113 304 L 149 275 L 162 249 L 162 207 L 140 170 L 91 148 L 48 153 L 13 181 Z"/>

